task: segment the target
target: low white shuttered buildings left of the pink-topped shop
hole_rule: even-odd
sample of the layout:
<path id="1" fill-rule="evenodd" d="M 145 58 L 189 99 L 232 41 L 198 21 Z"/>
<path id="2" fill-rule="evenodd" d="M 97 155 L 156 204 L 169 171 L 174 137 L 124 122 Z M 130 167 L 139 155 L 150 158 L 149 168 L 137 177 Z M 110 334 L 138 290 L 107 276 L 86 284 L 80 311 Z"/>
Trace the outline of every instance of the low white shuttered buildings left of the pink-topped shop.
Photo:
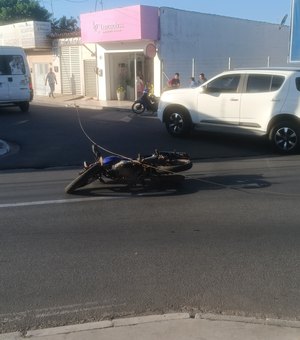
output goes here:
<path id="1" fill-rule="evenodd" d="M 53 35 L 49 22 L 26 21 L 0 26 L 0 45 L 24 48 L 34 95 L 48 95 L 45 79 L 52 68 L 55 93 L 97 97 L 95 45 L 83 44 L 80 32 Z"/>

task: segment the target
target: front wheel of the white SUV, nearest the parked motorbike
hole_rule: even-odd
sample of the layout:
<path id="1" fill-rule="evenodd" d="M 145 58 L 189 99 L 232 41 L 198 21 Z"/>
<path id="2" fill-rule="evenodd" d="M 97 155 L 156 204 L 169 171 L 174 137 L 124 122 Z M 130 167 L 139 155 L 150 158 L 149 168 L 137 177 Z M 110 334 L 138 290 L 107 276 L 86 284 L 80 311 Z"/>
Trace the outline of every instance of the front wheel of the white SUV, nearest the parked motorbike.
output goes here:
<path id="1" fill-rule="evenodd" d="M 192 122 L 189 114 L 183 110 L 173 110 L 165 118 L 166 128 L 174 137 L 187 136 L 192 130 Z"/>

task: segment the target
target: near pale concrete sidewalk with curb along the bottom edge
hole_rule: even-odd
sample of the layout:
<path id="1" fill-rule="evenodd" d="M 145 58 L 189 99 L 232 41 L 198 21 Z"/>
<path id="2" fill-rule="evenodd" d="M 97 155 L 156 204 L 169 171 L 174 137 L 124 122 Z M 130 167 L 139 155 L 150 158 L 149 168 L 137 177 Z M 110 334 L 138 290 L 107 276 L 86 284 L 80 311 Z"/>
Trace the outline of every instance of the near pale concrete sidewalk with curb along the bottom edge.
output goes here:
<path id="1" fill-rule="evenodd" d="M 299 340 L 300 322 L 213 314 L 153 315 L 0 334 L 0 340 Z"/>

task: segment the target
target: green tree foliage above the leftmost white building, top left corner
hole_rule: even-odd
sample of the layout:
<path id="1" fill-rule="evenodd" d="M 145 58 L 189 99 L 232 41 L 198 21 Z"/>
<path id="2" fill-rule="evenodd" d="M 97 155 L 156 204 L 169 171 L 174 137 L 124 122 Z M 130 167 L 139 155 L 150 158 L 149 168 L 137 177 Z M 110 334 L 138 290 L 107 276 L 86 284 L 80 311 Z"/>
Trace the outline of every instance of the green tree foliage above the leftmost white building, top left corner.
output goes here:
<path id="1" fill-rule="evenodd" d="M 51 21 L 52 14 L 37 0 L 0 0 L 0 25 L 22 21 Z"/>

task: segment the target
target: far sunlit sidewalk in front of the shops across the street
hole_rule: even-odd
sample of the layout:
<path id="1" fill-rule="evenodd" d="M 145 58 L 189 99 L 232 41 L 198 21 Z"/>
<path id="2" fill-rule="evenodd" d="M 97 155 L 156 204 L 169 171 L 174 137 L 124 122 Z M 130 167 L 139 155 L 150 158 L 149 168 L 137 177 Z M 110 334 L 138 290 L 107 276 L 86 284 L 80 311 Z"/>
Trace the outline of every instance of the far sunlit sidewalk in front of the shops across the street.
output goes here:
<path id="1" fill-rule="evenodd" d="M 34 96 L 33 104 L 39 105 L 53 105 L 53 106 L 79 106 L 82 108 L 89 108 L 95 110 L 102 110 L 104 108 L 111 108 L 117 110 L 131 110 L 133 101 L 118 101 L 118 100 L 107 100 L 99 101 L 93 97 L 84 97 L 79 95 L 61 95 L 56 94 L 55 98 L 48 96 Z"/>

